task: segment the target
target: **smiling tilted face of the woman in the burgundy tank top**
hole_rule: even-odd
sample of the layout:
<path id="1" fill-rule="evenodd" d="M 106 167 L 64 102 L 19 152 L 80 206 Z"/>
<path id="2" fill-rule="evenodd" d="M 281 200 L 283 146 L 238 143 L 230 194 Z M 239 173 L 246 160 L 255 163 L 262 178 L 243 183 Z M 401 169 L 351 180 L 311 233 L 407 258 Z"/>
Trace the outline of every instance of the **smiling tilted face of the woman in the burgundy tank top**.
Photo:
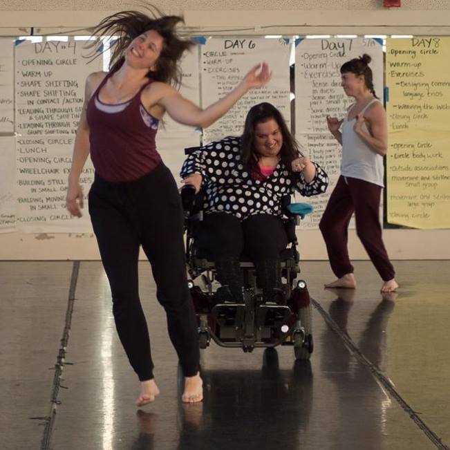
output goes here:
<path id="1" fill-rule="evenodd" d="M 160 57 L 164 39 L 155 30 L 149 30 L 131 41 L 126 48 L 126 62 L 133 68 L 153 70 Z"/>

